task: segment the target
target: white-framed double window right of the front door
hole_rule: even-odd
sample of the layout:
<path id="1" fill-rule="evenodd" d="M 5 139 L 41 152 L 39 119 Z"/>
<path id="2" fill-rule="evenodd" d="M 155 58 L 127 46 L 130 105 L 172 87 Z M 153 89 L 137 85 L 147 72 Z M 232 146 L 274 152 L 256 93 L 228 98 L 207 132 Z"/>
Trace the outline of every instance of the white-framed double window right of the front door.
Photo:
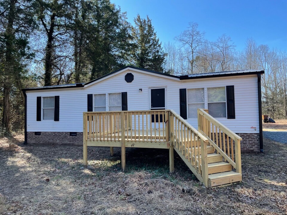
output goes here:
<path id="1" fill-rule="evenodd" d="M 205 95 L 207 93 L 207 95 Z M 197 118 L 197 109 L 207 108 L 213 117 L 226 118 L 226 88 L 202 87 L 187 89 L 188 118 Z"/>

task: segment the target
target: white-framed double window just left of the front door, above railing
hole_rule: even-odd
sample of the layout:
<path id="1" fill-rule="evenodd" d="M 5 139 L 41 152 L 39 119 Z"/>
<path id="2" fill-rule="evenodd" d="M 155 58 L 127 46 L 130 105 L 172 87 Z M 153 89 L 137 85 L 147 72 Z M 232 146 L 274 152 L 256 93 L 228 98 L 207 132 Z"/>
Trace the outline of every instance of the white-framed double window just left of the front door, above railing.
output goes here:
<path id="1" fill-rule="evenodd" d="M 120 110 L 122 110 L 121 93 L 94 94 L 94 111 Z"/>

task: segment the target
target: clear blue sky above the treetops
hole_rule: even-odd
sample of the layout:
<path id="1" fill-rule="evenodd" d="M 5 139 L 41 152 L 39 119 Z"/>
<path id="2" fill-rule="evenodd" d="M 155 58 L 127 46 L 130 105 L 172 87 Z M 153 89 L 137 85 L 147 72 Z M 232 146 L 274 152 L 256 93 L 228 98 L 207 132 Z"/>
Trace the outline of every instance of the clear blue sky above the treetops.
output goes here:
<path id="1" fill-rule="evenodd" d="M 183 0 L 111 0 L 127 12 L 128 21 L 134 24 L 137 14 L 149 16 L 164 42 L 174 42 L 187 28 L 188 22 L 197 22 L 205 38 L 215 41 L 225 33 L 237 50 L 244 49 L 248 37 L 257 44 L 287 51 L 287 1 L 183 1 Z"/>

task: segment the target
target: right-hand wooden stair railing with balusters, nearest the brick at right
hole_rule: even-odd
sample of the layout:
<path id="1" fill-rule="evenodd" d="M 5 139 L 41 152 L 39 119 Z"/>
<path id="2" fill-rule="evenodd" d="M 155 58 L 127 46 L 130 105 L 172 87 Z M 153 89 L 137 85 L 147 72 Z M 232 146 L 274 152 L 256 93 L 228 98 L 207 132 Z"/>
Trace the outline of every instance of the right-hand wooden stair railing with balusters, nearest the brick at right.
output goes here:
<path id="1" fill-rule="evenodd" d="M 198 130 L 221 154 L 237 173 L 241 173 L 240 141 L 242 138 L 209 115 L 208 110 L 198 109 Z"/>

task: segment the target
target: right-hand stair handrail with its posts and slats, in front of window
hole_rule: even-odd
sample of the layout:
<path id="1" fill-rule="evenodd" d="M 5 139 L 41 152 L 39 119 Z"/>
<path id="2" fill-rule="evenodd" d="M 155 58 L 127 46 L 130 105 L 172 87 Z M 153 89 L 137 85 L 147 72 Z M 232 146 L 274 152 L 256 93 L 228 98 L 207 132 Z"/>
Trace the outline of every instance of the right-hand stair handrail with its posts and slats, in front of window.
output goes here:
<path id="1" fill-rule="evenodd" d="M 223 125 L 221 122 L 217 121 L 215 118 L 213 118 L 205 109 L 197 109 L 197 114 L 198 114 L 198 130 L 201 134 L 203 134 L 209 141 L 209 144 L 213 146 L 218 153 L 220 153 L 226 161 L 228 161 L 235 169 L 237 173 L 241 174 L 241 151 L 240 151 L 240 141 L 242 141 L 242 138 L 238 136 L 236 133 L 231 131 L 229 128 L 227 128 L 225 125 Z M 235 143 L 235 162 L 226 154 L 225 151 L 223 151 L 215 142 L 214 142 L 214 133 L 213 133 L 213 140 L 211 139 L 211 131 L 210 131 L 210 123 L 209 125 L 205 125 L 206 128 L 203 128 L 203 118 L 207 121 L 212 123 L 213 125 L 216 126 L 220 131 L 223 131 L 224 134 L 227 135 L 228 137 L 228 142 L 229 142 L 229 137 L 231 138 L 230 142 L 234 140 Z M 208 132 L 206 134 L 206 131 Z M 217 130 L 216 130 L 217 132 Z M 210 135 L 210 137 L 208 136 Z M 220 134 L 221 136 L 221 134 Z M 224 137 L 225 138 L 225 137 Z M 225 139 L 224 139 L 225 141 Z M 233 145 L 231 144 L 233 147 Z M 229 143 L 228 143 L 228 152 L 229 152 Z"/>

